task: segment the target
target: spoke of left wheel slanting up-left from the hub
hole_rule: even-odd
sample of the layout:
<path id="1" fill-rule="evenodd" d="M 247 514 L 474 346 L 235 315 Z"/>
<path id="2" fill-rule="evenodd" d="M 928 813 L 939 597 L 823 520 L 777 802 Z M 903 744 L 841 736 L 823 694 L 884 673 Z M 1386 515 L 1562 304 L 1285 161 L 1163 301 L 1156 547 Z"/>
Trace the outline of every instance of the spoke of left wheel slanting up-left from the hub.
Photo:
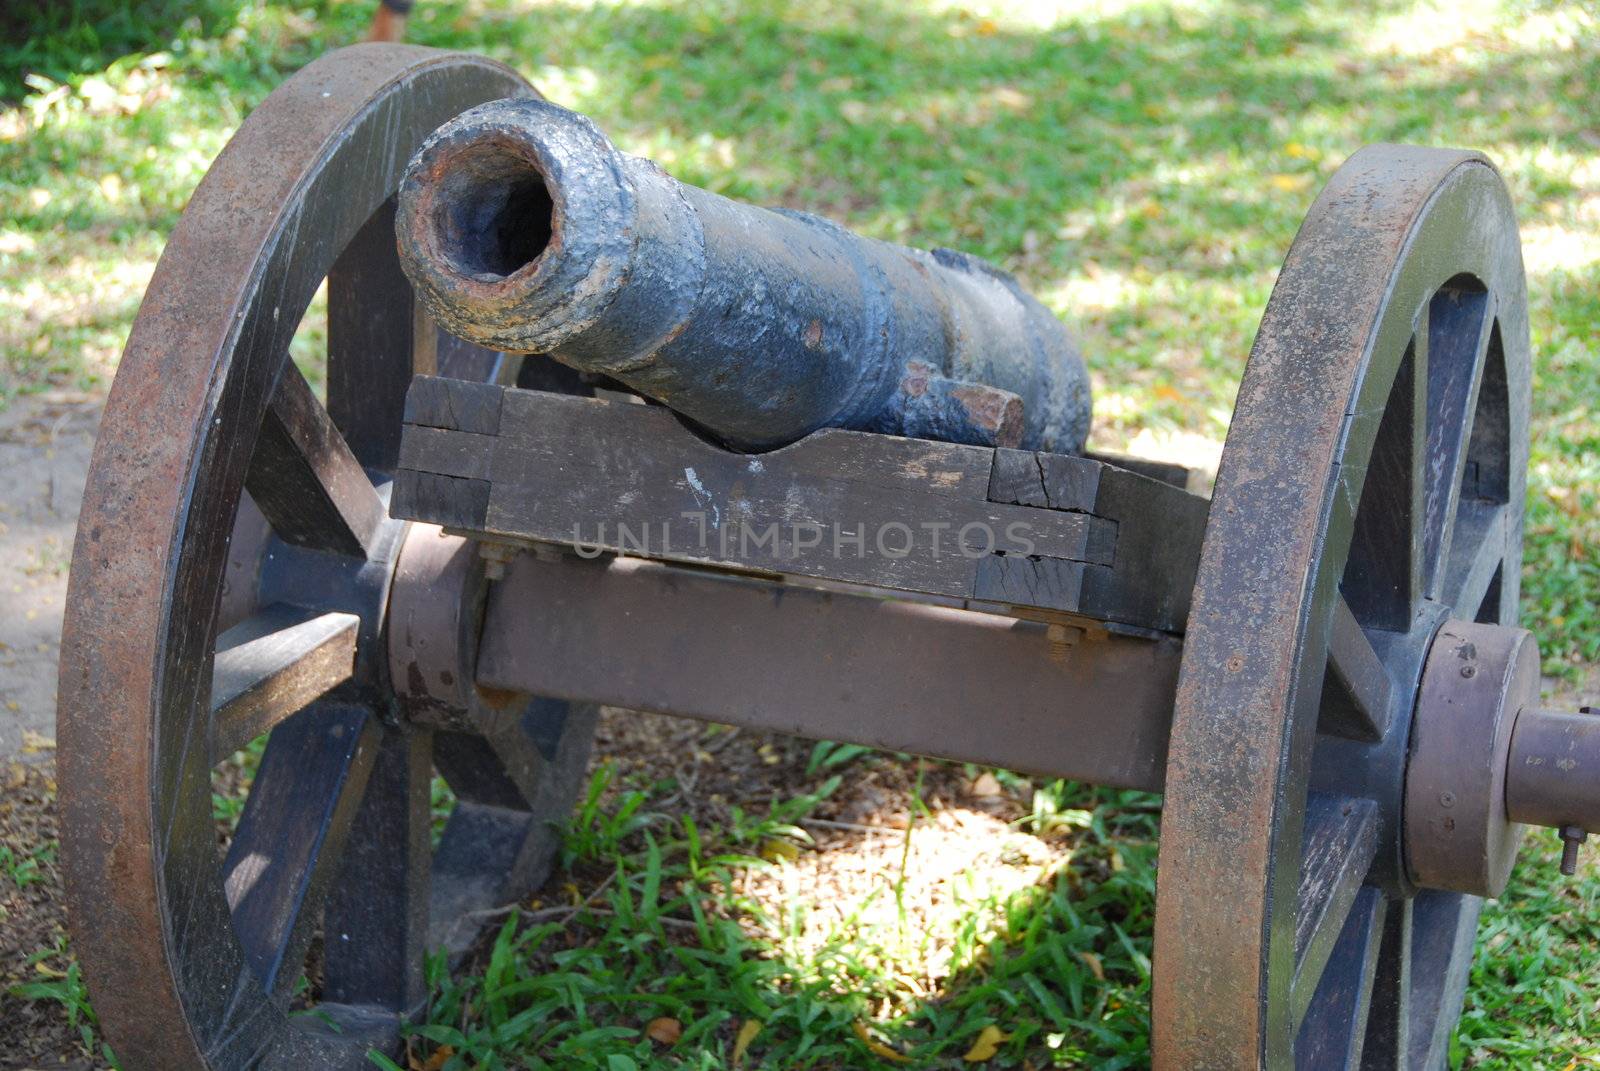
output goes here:
<path id="1" fill-rule="evenodd" d="M 362 557 L 386 509 L 294 362 L 283 360 L 245 488 L 285 543 Z"/>

